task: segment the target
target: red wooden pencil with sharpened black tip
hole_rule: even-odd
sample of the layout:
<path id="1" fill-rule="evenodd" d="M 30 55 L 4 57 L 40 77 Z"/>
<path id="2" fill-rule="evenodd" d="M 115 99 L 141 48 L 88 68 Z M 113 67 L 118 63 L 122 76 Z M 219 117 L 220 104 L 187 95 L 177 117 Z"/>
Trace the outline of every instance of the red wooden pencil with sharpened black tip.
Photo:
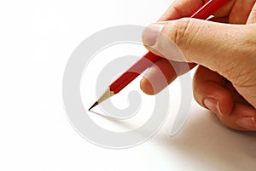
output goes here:
<path id="1" fill-rule="evenodd" d="M 207 20 L 207 18 L 222 7 L 229 0 L 210 0 L 207 3 L 203 4 L 200 9 L 198 9 L 190 18 Z M 96 105 L 102 103 L 102 101 L 107 100 L 114 94 L 118 94 L 125 86 L 132 82 L 136 77 L 145 71 L 149 66 L 152 65 L 156 60 L 159 60 L 161 57 L 148 52 L 143 55 L 143 57 L 138 60 L 133 66 L 131 66 L 127 71 L 125 71 L 120 77 L 118 77 L 113 83 L 108 86 L 108 89 L 104 94 L 90 107 L 92 109 Z M 89 111 L 90 111 L 89 109 Z"/>

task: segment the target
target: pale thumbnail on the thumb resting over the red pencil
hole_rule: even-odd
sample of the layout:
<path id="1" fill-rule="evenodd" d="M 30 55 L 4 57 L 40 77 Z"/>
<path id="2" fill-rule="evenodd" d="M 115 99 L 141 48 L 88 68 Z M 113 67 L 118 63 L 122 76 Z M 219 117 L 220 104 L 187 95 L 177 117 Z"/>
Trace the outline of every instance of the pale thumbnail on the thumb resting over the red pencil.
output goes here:
<path id="1" fill-rule="evenodd" d="M 143 31 L 143 43 L 148 46 L 154 46 L 160 35 L 164 23 L 155 23 L 147 26 Z"/>

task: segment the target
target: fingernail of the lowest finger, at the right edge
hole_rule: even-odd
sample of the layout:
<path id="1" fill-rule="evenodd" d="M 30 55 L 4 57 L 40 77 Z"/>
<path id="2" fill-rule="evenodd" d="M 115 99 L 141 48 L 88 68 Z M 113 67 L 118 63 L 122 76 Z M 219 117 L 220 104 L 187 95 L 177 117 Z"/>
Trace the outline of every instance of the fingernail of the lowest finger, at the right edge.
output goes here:
<path id="1" fill-rule="evenodd" d="M 256 130 L 256 122 L 254 117 L 240 117 L 236 120 L 236 124 L 248 130 Z"/>

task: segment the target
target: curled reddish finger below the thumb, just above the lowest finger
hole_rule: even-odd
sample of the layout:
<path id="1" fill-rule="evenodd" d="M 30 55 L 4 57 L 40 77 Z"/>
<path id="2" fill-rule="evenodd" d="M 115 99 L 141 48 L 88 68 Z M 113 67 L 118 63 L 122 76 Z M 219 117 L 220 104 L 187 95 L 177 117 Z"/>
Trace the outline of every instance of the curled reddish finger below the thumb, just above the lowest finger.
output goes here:
<path id="1" fill-rule="evenodd" d="M 217 72 L 199 66 L 193 80 L 195 100 L 218 117 L 229 116 L 233 108 L 232 94 L 224 88 L 224 78 Z"/>

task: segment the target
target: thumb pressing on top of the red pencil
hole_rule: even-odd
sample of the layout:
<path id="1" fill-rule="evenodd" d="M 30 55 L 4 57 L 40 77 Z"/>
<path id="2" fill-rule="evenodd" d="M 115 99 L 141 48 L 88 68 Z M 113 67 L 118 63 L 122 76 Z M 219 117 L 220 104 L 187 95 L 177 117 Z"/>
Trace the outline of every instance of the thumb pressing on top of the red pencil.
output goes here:
<path id="1" fill-rule="evenodd" d="M 247 54 L 247 30 L 242 25 L 183 18 L 148 26 L 143 43 L 168 60 L 196 63 L 226 75 L 227 66 L 234 68 L 238 64 L 233 61 L 241 62 L 236 58 Z"/>

